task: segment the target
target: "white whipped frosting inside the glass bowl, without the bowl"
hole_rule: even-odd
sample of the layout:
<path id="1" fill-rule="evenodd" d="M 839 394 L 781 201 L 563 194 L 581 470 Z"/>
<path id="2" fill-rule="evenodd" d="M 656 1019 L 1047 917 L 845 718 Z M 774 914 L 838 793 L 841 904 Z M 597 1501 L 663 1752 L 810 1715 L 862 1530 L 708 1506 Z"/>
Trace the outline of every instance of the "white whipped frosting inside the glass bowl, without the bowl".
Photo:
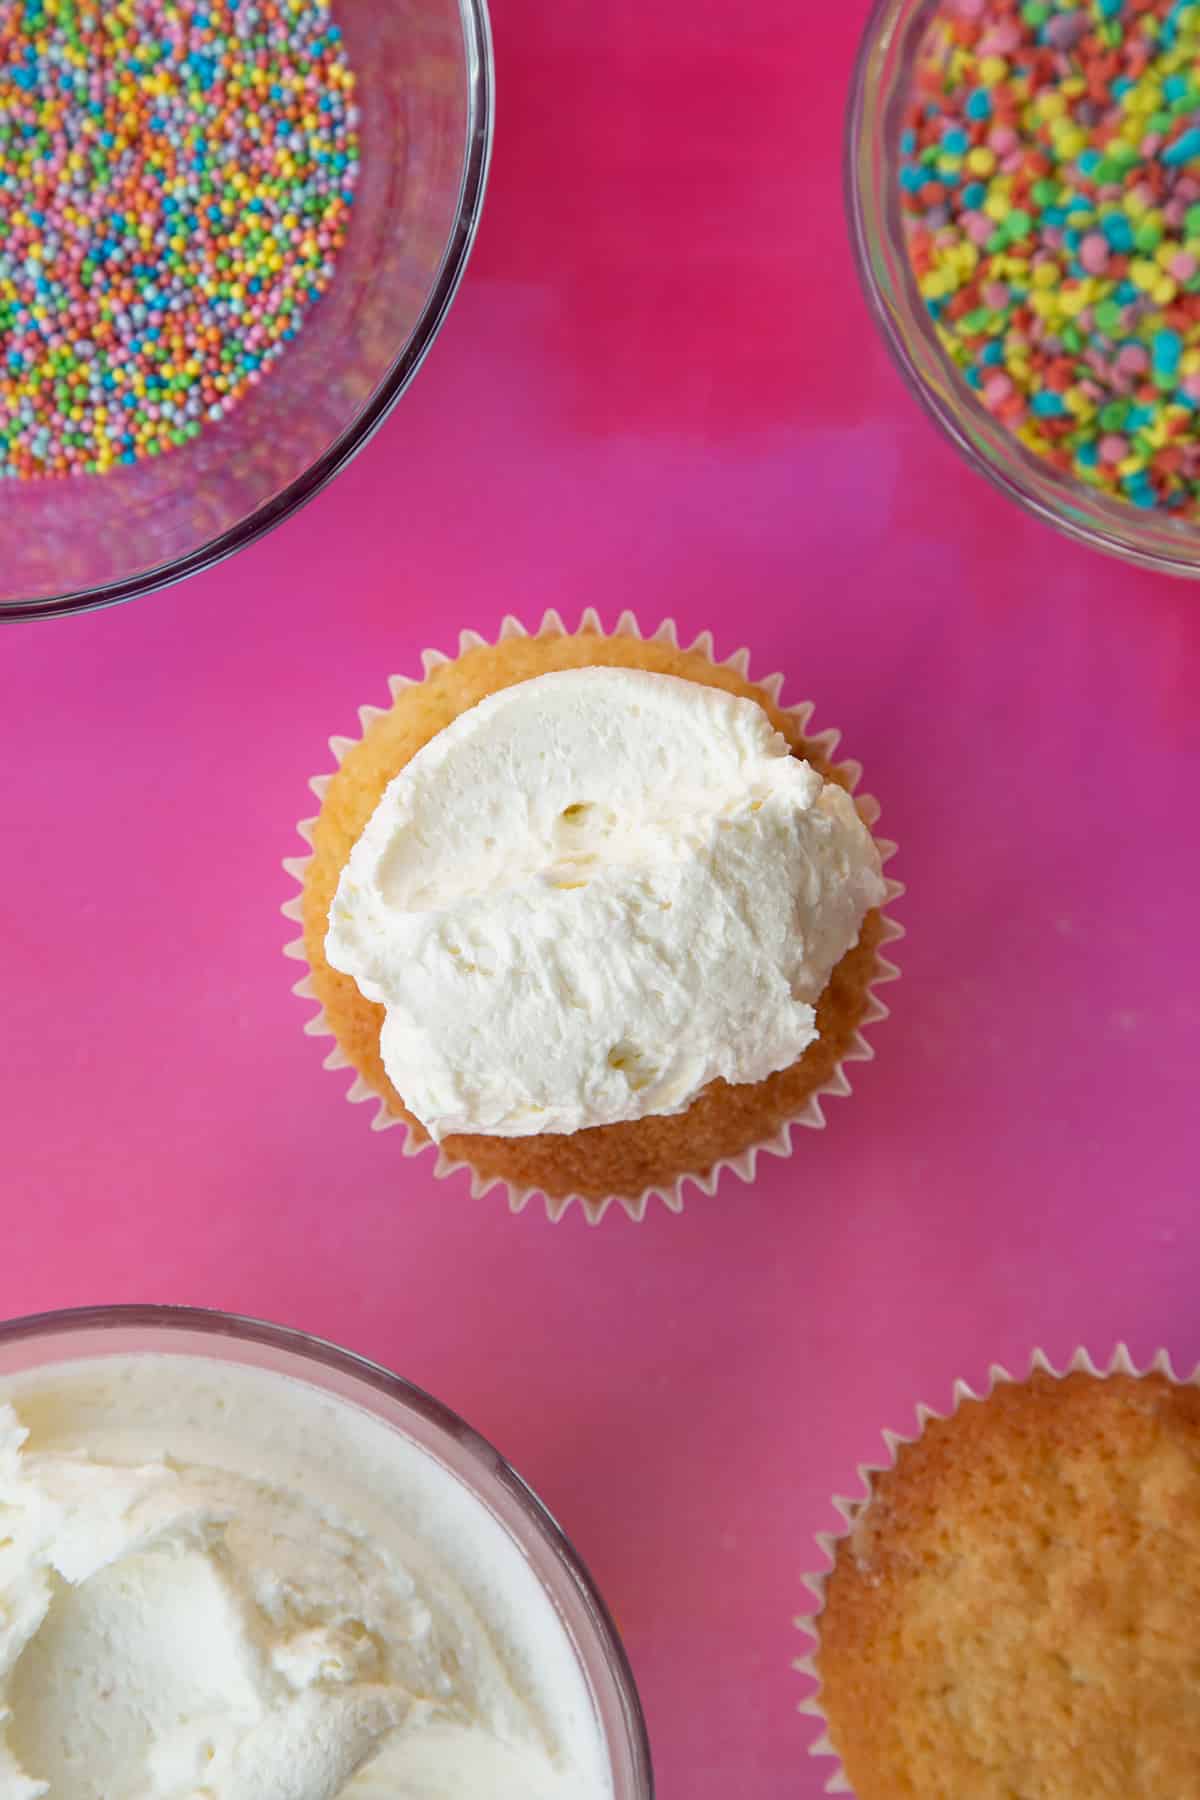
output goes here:
<path id="1" fill-rule="evenodd" d="M 604 1800 L 583 1678 L 482 1507 L 479 1593 L 389 1519 L 470 1539 L 466 1490 L 299 1384 L 139 1361 L 0 1404 L 4 1800 Z"/>

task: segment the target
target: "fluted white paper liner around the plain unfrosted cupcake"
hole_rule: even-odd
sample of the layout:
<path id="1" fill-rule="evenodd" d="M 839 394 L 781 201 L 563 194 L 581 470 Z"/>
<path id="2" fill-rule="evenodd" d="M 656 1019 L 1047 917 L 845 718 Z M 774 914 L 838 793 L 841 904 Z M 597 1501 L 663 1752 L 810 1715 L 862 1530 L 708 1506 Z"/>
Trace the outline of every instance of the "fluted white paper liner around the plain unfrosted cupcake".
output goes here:
<path id="1" fill-rule="evenodd" d="M 824 1559 L 824 1568 L 817 1570 L 811 1575 L 802 1577 L 801 1584 L 808 1588 L 813 1604 L 808 1613 L 801 1613 L 799 1618 L 793 1620 L 797 1631 L 802 1631 L 808 1638 L 813 1640 L 811 1651 L 806 1656 L 799 1656 L 792 1667 L 813 1683 L 813 1692 L 801 1701 L 799 1712 L 804 1714 L 804 1717 L 817 1721 L 819 1724 L 819 1735 L 808 1746 L 810 1757 L 828 1757 L 835 1764 L 826 1780 L 828 1795 L 853 1795 L 855 1791 L 846 1777 L 846 1771 L 842 1769 L 838 1753 L 833 1746 L 833 1739 L 829 1737 L 829 1721 L 826 1719 L 824 1706 L 820 1705 L 820 1676 L 817 1672 L 817 1649 L 820 1643 L 820 1615 L 826 1604 L 826 1584 L 833 1571 L 837 1546 L 846 1537 L 851 1535 L 864 1508 L 871 1501 L 874 1476 L 885 1474 L 889 1469 L 892 1469 L 900 1451 L 907 1444 L 916 1444 L 916 1440 L 921 1436 L 930 1420 L 954 1418 L 954 1415 L 959 1411 L 964 1400 L 988 1400 L 997 1388 L 1004 1384 L 1024 1382 L 1034 1373 L 1051 1375 L 1054 1381 L 1063 1381 L 1063 1377 L 1067 1375 L 1079 1375 L 1079 1373 L 1094 1375 L 1099 1381 L 1105 1381 L 1108 1375 L 1133 1375 L 1137 1381 L 1141 1381 L 1144 1375 L 1166 1375 L 1166 1379 L 1175 1382 L 1175 1386 L 1178 1388 L 1189 1388 L 1200 1384 L 1200 1366 L 1193 1370 L 1191 1375 L 1177 1375 L 1171 1366 L 1169 1352 L 1166 1350 L 1159 1350 L 1144 1368 L 1137 1368 L 1128 1352 L 1128 1346 L 1123 1343 L 1115 1346 L 1106 1368 L 1099 1368 L 1092 1361 L 1087 1350 L 1076 1350 L 1063 1368 L 1054 1368 L 1054 1364 L 1051 1363 L 1051 1359 L 1045 1355 L 1043 1350 L 1034 1350 L 1029 1359 L 1029 1368 L 1024 1375 L 1009 1375 L 1006 1368 L 1002 1368 L 999 1363 L 993 1363 L 993 1366 L 988 1370 L 988 1381 L 982 1388 L 972 1388 L 970 1382 L 966 1381 L 955 1381 L 952 1402 L 945 1413 L 937 1411 L 937 1408 L 934 1406 L 918 1406 L 916 1431 L 910 1431 L 907 1435 L 901 1431 L 882 1433 L 883 1449 L 887 1451 L 887 1456 L 882 1462 L 860 1463 L 858 1469 L 855 1471 L 862 1492 L 851 1499 L 844 1496 L 835 1496 L 833 1499 L 833 1508 L 842 1516 L 844 1521 L 842 1530 L 817 1532 L 817 1548 Z"/>

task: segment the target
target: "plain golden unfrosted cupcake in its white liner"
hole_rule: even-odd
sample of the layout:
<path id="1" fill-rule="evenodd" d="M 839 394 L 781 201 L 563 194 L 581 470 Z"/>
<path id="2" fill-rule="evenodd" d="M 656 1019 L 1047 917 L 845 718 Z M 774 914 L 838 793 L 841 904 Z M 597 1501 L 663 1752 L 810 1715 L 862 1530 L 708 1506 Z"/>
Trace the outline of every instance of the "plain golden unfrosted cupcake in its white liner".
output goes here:
<path id="1" fill-rule="evenodd" d="M 1200 1388 L 1034 1357 L 892 1440 L 813 1584 L 858 1800 L 1200 1795 Z"/>

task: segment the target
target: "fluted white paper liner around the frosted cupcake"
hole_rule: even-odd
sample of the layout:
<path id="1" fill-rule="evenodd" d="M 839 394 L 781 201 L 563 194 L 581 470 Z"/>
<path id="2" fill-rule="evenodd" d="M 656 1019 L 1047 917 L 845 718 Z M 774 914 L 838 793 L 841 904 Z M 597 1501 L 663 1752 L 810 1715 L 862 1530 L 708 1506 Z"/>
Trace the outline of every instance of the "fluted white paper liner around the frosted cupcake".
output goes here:
<path id="1" fill-rule="evenodd" d="M 723 661 L 718 661 L 714 657 L 714 652 L 712 652 L 712 634 L 711 632 L 700 632 L 700 635 L 694 637 L 689 644 L 680 644 L 680 639 L 678 639 L 678 634 L 676 634 L 673 619 L 664 619 L 664 623 L 655 632 L 644 634 L 631 612 L 622 612 L 621 617 L 617 619 L 615 630 L 613 632 L 604 632 L 604 628 L 601 625 L 601 619 L 599 619 L 599 614 L 592 607 L 588 607 L 587 612 L 581 616 L 579 625 L 576 626 L 574 632 L 569 632 L 569 628 L 563 625 L 561 616 L 556 610 L 545 612 L 543 617 L 542 617 L 542 623 L 538 626 L 534 626 L 534 630 L 527 630 L 527 626 L 524 626 L 520 623 L 520 619 L 515 619 L 509 614 L 502 621 L 500 632 L 498 632 L 495 643 L 504 643 L 506 639 L 511 639 L 511 637 L 551 637 L 551 635 L 554 635 L 554 637 L 565 637 L 565 635 L 574 637 L 574 635 L 579 635 L 583 632 L 596 634 L 597 637 L 637 637 L 642 643 L 669 644 L 669 648 L 673 648 L 673 650 L 680 650 L 682 648 L 682 650 L 689 650 L 689 652 L 700 652 L 703 657 L 709 659 L 709 662 L 712 662 L 714 668 L 730 668 L 738 675 L 743 675 L 747 680 L 754 680 L 754 684 L 757 688 L 761 688 L 766 695 L 770 695 L 770 698 L 775 702 L 775 706 L 779 706 L 781 711 L 786 713 L 788 718 L 795 722 L 797 729 L 808 738 L 808 742 L 813 743 L 813 745 L 817 745 L 822 751 L 822 754 L 828 758 L 829 765 L 838 770 L 838 776 L 842 778 L 842 781 L 846 783 L 846 787 L 849 788 L 849 792 L 855 794 L 855 803 L 858 806 L 858 812 L 860 812 L 864 823 L 867 826 L 871 826 L 871 830 L 874 832 L 876 819 L 880 817 L 880 805 L 878 805 L 878 801 L 874 801 L 867 794 L 856 794 L 858 781 L 862 779 L 862 765 L 856 763 L 856 761 L 847 761 L 847 760 L 838 761 L 838 763 L 833 761 L 835 751 L 837 751 L 837 747 L 840 743 L 840 738 L 842 738 L 840 731 L 810 733 L 808 731 L 808 722 L 810 722 L 811 713 L 813 713 L 811 702 L 802 702 L 799 706 L 781 706 L 779 695 L 783 691 L 783 675 L 766 675 L 766 677 L 761 677 L 761 679 L 750 675 L 750 652 L 748 650 L 734 650 L 734 653 L 730 657 L 725 657 Z M 489 641 L 486 637 L 480 637 L 479 632 L 461 632 L 457 655 L 464 655 L 468 650 L 479 650 L 479 648 L 488 648 L 488 646 L 489 646 Z M 439 668 L 441 664 L 452 662 L 452 661 L 455 661 L 455 659 L 448 657 L 441 650 L 423 650 L 421 652 L 421 666 L 423 666 L 425 675 L 428 675 L 432 670 Z M 390 689 L 392 698 L 396 698 L 396 695 L 403 688 L 410 688 L 410 686 L 412 686 L 412 677 L 408 677 L 408 675 L 392 675 L 389 679 L 389 689 Z M 335 763 L 338 767 L 344 761 L 347 751 L 353 749 L 354 743 L 362 742 L 362 736 L 367 734 L 367 731 L 374 724 L 374 720 L 381 718 L 385 711 L 387 711 L 387 707 L 380 707 L 380 706 L 360 706 L 358 707 L 358 722 L 360 722 L 360 727 L 362 727 L 360 738 L 344 738 L 344 736 L 329 738 L 329 749 L 331 749 L 333 760 L 335 760 Z M 333 772 L 331 774 L 324 774 L 324 776 L 315 776 L 308 783 L 318 801 L 324 801 L 326 790 L 327 790 L 331 779 L 333 779 Z M 300 833 L 300 837 L 304 839 L 306 844 L 313 842 L 315 824 L 317 824 L 315 817 L 302 819 L 297 824 L 297 832 Z M 896 844 L 894 842 L 891 842 L 889 839 L 883 839 L 883 837 L 876 837 L 874 841 L 876 841 L 876 846 L 880 850 L 880 857 L 882 857 L 883 862 L 887 862 L 891 857 L 894 857 L 894 853 L 896 853 Z M 311 862 L 311 855 L 284 857 L 284 862 L 282 862 L 284 871 L 300 887 L 300 893 L 293 895 L 282 905 L 284 918 L 291 920 L 293 923 L 302 923 L 302 916 L 304 916 L 302 914 L 302 889 L 304 889 L 304 878 L 306 878 L 306 869 L 308 869 L 309 862 Z M 903 889 L 903 886 L 900 882 L 894 882 L 894 880 L 887 878 L 887 896 L 883 900 L 883 909 L 887 909 L 894 900 L 898 900 L 903 895 L 903 891 L 905 889 Z M 371 1087 L 369 1082 L 365 1082 L 362 1075 L 354 1073 L 354 1078 L 353 1078 L 353 1082 L 351 1082 L 351 1085 L 347 1089 L 345 1098 L 351 1102 L 351 1105 L 362 1105 L 365 1102 L 374 1102 L 374 1118 L 371 1120 L 371 1129 L 372 1130 L 390 1130 L 394 1125 L 403 1127 L 403 1154 L 405 1156 L 421 1156 L 426 1150 L 435 1152 L 435 1157 L 437 1157 L 435 1165 L 434 1165 L 434 1175 L 435 1175 L 435 1179 L 443 1181 L 448 1175 L 457 1175 L 461 1172 L 466 1172 L 470 1175 L 470 1183 L 471 1183 L 471 1197 L 482 1197 L 484 1193 L 489 1193 L 493 1188 L 502 1188 L 502 1190 L 506 1190 L 509 1208 L 515 1213 L 524 1211 L 524 1208 L 531 1201 L 534 1201 L 534 1199 L 542 1199 L 545 1202 L 547 1217 L 552 1219 L 552 1220 L 561 1219 L 567 1213 L 567 1210 L 572 1206 L 572 1202 L 576 1202 L 576 1201 L 579 1202 L 579 1206 L 587 1213 L 590 1224 L 599 1224 L 599 1220 L 604 1217 L 604 1213 L 612 1206 L 615 1206 L 619 1211 L 624 1211 L 635 1222 L 640 1222 L 646 1217 L 646 1211 L 648 1211 L 651 1201 L 655 1201 L 655 1199 L 662 1201 L 662 1204 L 669 1211 L 678 1213 L 678 1211 L 684 1210 L 684 1190 L 687 1188 L 689 1183 L 694 1188 L 698 1188 L 700 1193 L 712 1195 L 712 1193 L 716 1193 L 720 1179 L 725 1174 L 736 1175 L 739 1181 L 747 1181 L 747 1183 L 754 1181 L 754 1174 L 756 1174 L 756 1168 L 757 1168 L 759 1156 L 783 1156 L 783 1157 L 792 1156 L 792 1130 L 793 1130 L 793 1127 L 802 1127 L 806 1130 L 822 1130 L 824 1129 L 826 1116 L 824 1116 L 824 1105 L 822 1105 L 822 1102 L 851 1093 L 851 1084 L 849 1084 L 849 1078 L 846 1075 L 846 1064 L 849 1064 L 849 1062 L 871 1062 L 874 1058 L 874 1049 L 867 1042 L 864 1031 L 865 1031 L 867 1026 L 878 1024 L 882 1019 L 887 1019 L 887 1015 L 889 1015 L 889 1008 L 878 997 L 876 988 L 885 986 L 889 981 L 898 981 L 900 979 L 900 970 L 896 968 L 896 965 L 887 956 L 883 956 L 882 947 L 889 945 L 889 943 L 896 943 L 900 938 L 903 938 L 903 934 L 905 934 L 903 932 L 903 925 L 900 925 L 894 918 L 887 916 L 887 913 L 885 913 L 885 916 L 883 916 L 883 934 L 882 934 L 882 940 L 880 940 L 880 950 L 876 952 L 878 970 L 876 970 L 874 979 L 869 985 L 867 1010 L 865 1010 L 865 1013 L 862 1017 L 860 1028 L 855 1031 L 855 1037 L 851 1039 L 849 1049 L 838 1060 L 838 1064 L 835 1066 L 831 1076 L 819 1089 L 815 1089 L 808 1096 L 808 1100 L 804 1102 L 804 1107 L 793 1118 L 790 1118 L 784 1125 L 781 1125 L 781 1129 L 772 1138 L 765 1139 L 763 1143 L 750 1145 L 750 1148 L 743 1150 L 739 1156 L 723 1157 L 721 1161 L 714 1163 L 712 1168 L 705 1175 L 691 1175 L 691 1174 L 680 1175 L 669 1186 L 653 1184 L 653 1186 L 644 1188 L 635 1197 L 630 1197 L 630 1195 L 612 1195 L 606 1201 L 592 1201 L 592 1199 L 587 1199 L 585 1195 L 578 1195 L 578 1193 L 561 1195 L 561 1197 L 551 1197 L 551 1195 L 542 1193 L 540 1188 L 516 1188 L 513 1183 L 504 1181 L 504 1177 L 500 1177 L 500 1175 L 482 1177 L 482 1175 L 479 1175 L 471 1168 L 470 1163 L 459 1161 L 457 1157 L 450 1156 L 444 1148 L 441 1148 L 441 1147 L 437 1147 L 437 1145 L 434 1145 L 430 1141 L 421 1141 L 421 1139 L 414 1138 L 414 1134 L 408 1130 L 407 1121 L 401 1120 L 401 1118 L 396 1118 L 396 1114 L 389 1109 L 387 1100 L 381 1094 L 378 1094 L 376 1089 Z M 306 952 L 304 952 L 304 938 L 302 936 L 295 938 L 291 943 L 284 945 L 284 956 L 291 958 L 297 963 L 304 963 L 306 970 L 308 970 L 308 958 L 306 958 Z M 309 972 L 306 972 L 295 983 L 295 986 L 291 988 L 291 992 L 297 994 L 300 999 L 317 1001 L 318 1003 L 318 995 L 317 995 L 317 990 L 313 986 L 313 977 L 311 977 Z M 308 1022 L 304 1024 L 304 1031 L 309 1037 L 335 1037 L 335 1033 L 333 1033 L 333 1030 L 329 1026 L 329 1021 L 326 1019 L 324 1008 L 320 1008 L 320 1006 L 318 1006 L 318 1012 L 311 1019 L 308 1019 Z M 326 1069 L 351 1069 L 353 1067 L 349 1057 L 342 1051 L 342 1048 L 340 1048 L 340 1044 L 336 1040 L 333 1044 L 333 1049 L 324 1058 L 324 1067 Z"/>

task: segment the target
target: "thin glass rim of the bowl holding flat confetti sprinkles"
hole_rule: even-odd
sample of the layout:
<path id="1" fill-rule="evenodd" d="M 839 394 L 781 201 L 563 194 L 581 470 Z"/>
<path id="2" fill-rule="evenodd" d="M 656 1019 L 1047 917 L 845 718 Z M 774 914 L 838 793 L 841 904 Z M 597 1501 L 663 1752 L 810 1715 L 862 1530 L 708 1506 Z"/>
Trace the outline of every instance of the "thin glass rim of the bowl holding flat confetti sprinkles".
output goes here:
<path id="1" fill-rule="evenodd" d="M 903 0 L 900 0 L 903 4 Z M 912 0 L 910 16 L 918 11 L 927 11 L 934 14 L 937 0 Z M 930 389 L 928 382 L 921 374 L 909 346 L 905 342 L 903 331 L 896 324 L 891 308 L 887 306 L 880 284 L 871 268 L 871 256 L 867 248 L 867 196 L 864 194 L 864 182 L 860 180 L 858 153 L 864 140 L 864 119 L 867 108 L 867 88 L 869 88 L 869 70 L 876 47 L 883 38 L 883 29 L 887 25 L 889 14 L 898 13 L 898 0 L 871 0 L 867 9 L 867 18 L 862 27 L 862 36 L 858 40 L 858 50 L 855 54 L 855 67 L 849 79 L 849 95 L 846 104 L 846 124 L 842 131 L 842 193 L 846 203 L 846 220 L 849 225 L 851 256 L 855 268 L 858 272 L 858 283 L 867 301 L 867 310 L 887 346 L 887 351 L 896 365 L 905 387 L 912 398 L 919 403 L 921 410 L 934 421 L 939 432 L 950 439 L 954 448 L 964 459 L 968 468 L 982 475 L 999 488 L 1000 493 L 1018 506 L 1031 518 L 1038 518 L 1042 524 L 1051 526 L 1063 536 L 1072 538 L 1076 544 L 1083 544 L 1087 549 L 1099 551 L 1101 554 L 1114 556 L 1119 562 L 1132 563 L 1139 569 L 1151 569 L 1157 574 L 1180 576 L 1184 580 L 1200 578 L 1200 553 L 1195 560 L 1186 556 L 1173 556 L 1166 547 L 1151 549 L 1139 544 L 1135 535 L 1121 533 L 1114 520 L 1112 529 L 1101 524 L 1085 524 L 1070 518 L 1065 511 L 1054 508 L 1049 500 L 1040 499 L 1020 484 L 1013 475 L 991 461 L 975 448 L 972 439 L 963 430 L 959 419 L 954 416 L 948 405 Z M 905 257 L 907 270 L 907 257 Z M 957 369 L 948 356 L 943 356 L 946 374 L 955 382 L 957 387 L 966 389 Z M 966 400 L 970 405 L 977 405 L 970 391 L 966 391 Z M 1135 509 L 1130 508 L 1130 513 Z M 1135 524 L 1135 518 L 1130 520 Z"/>

